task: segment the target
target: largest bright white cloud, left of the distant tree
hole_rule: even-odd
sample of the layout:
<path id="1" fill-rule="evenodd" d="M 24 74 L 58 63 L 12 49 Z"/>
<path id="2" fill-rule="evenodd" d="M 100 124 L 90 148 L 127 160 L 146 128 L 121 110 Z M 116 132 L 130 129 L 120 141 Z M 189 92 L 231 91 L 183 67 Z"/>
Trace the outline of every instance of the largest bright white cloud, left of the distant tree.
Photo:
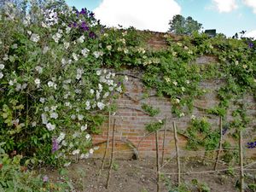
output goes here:
<path id="1" fill-rule="evenodd" d="M 175 0 L 103 0 L 94 12 L 103 25 L 166 32 L 181 7 Z"/>

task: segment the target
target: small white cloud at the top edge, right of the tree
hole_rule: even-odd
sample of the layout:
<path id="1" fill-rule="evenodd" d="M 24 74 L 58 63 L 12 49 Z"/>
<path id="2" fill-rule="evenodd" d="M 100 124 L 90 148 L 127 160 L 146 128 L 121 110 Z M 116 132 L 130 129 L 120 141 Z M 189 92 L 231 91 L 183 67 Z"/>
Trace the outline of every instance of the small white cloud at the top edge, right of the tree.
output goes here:
<path id="1" fill-rule="evenodd" d="M 238 8 L 236 0 L 213 0 L 220 13 L 229 13 Z"/>

